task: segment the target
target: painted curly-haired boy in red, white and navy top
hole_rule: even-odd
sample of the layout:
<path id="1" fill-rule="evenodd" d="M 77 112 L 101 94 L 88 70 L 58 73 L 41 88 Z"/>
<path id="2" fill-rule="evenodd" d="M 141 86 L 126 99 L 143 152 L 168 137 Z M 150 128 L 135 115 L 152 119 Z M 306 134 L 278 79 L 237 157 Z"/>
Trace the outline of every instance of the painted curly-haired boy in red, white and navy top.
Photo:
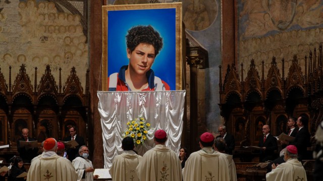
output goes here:
<path id="1" fill-rule="evenodd" d="M 169 91 L 170 86 L 155 76 L 151 66 L 163 47 L 163 39 L 150 25 L 135 26 L 128 31 L 129 64 L 110 75 L 109 91 Z"/>

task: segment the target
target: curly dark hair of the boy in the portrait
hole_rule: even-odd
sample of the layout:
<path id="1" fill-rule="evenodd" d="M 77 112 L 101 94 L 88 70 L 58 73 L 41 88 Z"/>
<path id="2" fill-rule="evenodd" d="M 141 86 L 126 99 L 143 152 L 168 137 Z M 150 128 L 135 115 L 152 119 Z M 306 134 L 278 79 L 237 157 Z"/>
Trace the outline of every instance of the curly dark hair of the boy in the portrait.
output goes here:
<path id="1" fill-rule="evenodd" d="M 150 25 L 148 26 L 134 26 L 128 30 L 126 35 L 127 47 L 132 52 L 137 45 L 140 43 L 145 43 L 152 45 L 155 49 L 155 56 L 159 53 L 160 49 L 163 47 L 163 38 L 159 36 Z"/>

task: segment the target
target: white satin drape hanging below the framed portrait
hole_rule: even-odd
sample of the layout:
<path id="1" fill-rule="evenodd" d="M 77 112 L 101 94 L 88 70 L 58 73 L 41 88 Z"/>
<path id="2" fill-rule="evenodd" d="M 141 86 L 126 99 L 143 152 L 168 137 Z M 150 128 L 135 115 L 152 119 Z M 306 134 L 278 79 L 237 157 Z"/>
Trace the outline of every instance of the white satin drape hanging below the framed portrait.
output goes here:
<path id="1" fill-rule="evenodd" d="M 166 146 L 179 152 L 183 131 L 186 91 L 97 92 L 101 116 L 104 168 L 112 166 L 113 157 L 122 153 L 122 134 L 127 122 L 143 115 L 150 130 L 143 145 L 135 148 L 143 155 L 154 146 L 153 133 L 167 132 Z"/>

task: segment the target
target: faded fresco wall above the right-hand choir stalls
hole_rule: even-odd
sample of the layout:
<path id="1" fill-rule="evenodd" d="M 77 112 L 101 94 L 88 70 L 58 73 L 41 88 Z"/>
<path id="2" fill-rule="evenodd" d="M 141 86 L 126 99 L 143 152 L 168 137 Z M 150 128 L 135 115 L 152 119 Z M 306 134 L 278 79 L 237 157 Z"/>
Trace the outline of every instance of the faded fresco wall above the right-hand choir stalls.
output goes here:
<path id="1" fill-rule="evenodd" d="M 321 0 L 238 1 L 238 64 L 253 58 L 261 70 L 263 60 L 267 72 L 275 56 L 280 69 L 285 59 L 286 74 L 297 54 L 304 68 L 304 56 L 323 41 L 322 10 Z"/>

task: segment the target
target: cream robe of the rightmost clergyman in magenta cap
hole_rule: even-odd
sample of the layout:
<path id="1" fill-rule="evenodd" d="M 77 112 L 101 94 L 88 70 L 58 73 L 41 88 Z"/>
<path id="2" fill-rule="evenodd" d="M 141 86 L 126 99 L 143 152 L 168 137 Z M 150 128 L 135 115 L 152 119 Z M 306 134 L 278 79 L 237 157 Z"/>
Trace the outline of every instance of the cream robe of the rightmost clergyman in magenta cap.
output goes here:
<path id="1" fill-rule="evenodd" d="M 279 164 L 275 169 L 266 174 L 266 180 L 271 181 L 307 181 L 305 169 L 297 158 L 288 159 L 285 163 Z"/>

